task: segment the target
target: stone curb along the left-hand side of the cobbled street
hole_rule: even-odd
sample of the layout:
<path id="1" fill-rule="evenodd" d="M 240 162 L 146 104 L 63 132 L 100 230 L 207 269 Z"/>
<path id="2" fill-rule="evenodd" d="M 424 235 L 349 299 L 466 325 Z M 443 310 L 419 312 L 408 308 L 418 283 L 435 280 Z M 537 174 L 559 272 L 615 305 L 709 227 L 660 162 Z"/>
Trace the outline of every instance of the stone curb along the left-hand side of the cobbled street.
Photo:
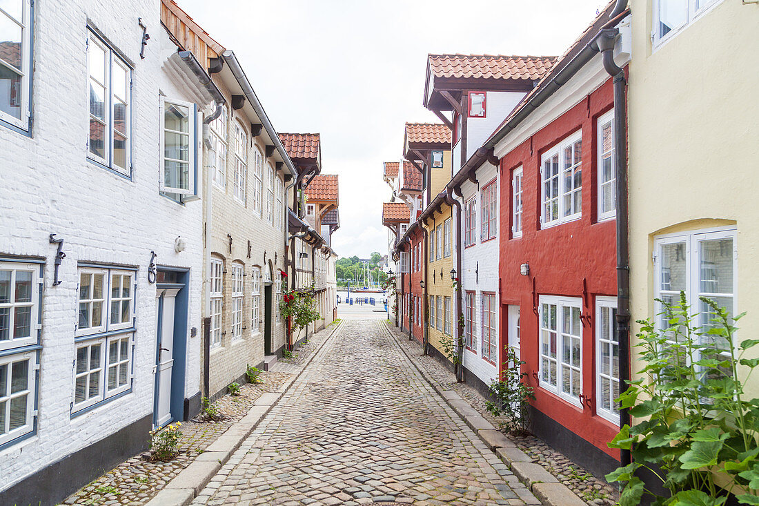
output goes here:
<path id="1" fill-rule="evenodd" d="M 315 349 L 311 356 L 301 366 L 297 375 L 285 381 L 276 392 L 261 394 L 247 415 L 235 422 L 224 434 L 216 438 L 198 455 L 192 463 L 185 467 L 170 482 L 164 485 L 156 495 L 147 503 L 147 506 L 187 506 L 203 490 L 206 485 L 216 476 L 222 466 L 237 451 L 243 441 L 253 433 L 261 420 L 272 410 L 282 397 L 290 389 L 291 385 L 306 370 L 311 361 L 322 351 L 323 347 L 343 326 L 343 322 L 332 329 L 332 333 Z"/>

